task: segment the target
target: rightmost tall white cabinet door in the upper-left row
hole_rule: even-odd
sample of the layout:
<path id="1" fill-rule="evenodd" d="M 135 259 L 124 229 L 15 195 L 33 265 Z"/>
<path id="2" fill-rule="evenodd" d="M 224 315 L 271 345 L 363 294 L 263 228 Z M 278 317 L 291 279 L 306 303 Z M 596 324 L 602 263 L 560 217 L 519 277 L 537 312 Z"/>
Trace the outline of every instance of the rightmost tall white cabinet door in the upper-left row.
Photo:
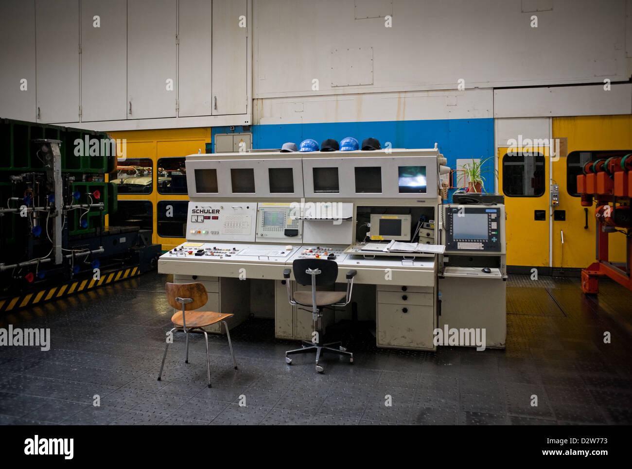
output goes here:
<path id="1" fill-rule="evenodd" d="M 246 0 L 213 0 L 214 115 L 246 113 L 247 16 Z"/>

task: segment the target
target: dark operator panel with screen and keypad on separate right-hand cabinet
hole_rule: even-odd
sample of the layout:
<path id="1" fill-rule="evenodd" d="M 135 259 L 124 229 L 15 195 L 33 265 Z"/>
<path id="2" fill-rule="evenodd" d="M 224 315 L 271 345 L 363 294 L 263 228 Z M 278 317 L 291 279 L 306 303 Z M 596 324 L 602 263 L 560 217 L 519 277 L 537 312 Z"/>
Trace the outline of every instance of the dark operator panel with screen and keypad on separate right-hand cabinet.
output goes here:
<path id="1" fill-rule="evenodd" d="M 446 252 L 504 252 L 503 205 L 446 205 Z"/>

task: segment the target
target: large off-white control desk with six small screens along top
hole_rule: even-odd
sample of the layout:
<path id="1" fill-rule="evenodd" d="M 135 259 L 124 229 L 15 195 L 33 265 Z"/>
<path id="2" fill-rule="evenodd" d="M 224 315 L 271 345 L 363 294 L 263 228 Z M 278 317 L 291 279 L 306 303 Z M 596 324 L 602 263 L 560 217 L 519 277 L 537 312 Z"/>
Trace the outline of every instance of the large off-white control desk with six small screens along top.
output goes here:
<path id="1" fill-rule="evenodd" d="M 283 271 L 296 259 L 329 259 L 338 265 L 335 288 L 357 271 L 351 301 L 375 321 L 377 346 L 435 350 L 444 255 L 418 248 L 446 242 L 442 161 L 436 146 L 189 155 L 186 242 L 161 256 L 159 272 L 203 283 L 209 301 L 200 309 L 233 313 L 229 327 L 254 314 L 274 317 L 277 338 L 310 339 L 312 315 L 288 303 Z M 453 222 L 451 233 L 458 229 Z M 395 241 L 402 251 L 363 250 Z M 293 291 L 311 288 L 290 278 Z M 350 307 L 325 317 L 325 327 L 350 317 Z"/>

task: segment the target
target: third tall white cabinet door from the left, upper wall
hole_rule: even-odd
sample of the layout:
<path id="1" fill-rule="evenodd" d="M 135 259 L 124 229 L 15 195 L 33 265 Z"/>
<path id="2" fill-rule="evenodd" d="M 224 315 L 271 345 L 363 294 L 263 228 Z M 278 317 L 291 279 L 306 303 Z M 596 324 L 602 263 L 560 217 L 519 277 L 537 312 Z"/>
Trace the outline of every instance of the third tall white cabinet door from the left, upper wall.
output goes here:
<path id="1" fill-rule="evenodd" d="M 126 118 L 126 0 L 81 0 L 82 121 Z"/>

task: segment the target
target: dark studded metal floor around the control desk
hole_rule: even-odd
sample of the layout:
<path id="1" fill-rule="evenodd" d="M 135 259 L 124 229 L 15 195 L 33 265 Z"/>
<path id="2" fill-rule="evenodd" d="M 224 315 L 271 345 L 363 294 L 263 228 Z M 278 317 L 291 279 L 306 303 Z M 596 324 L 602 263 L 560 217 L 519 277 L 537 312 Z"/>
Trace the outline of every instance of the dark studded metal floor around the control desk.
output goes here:
<path id="1" fill-rule="evenodd" d="M 0 327 L 51 328 L 49 351 L 0 347 L 0 423 L 632 423 L 632 292 L 608 280 L 587 298 L 578 279 L 511 276 L 506 350 L 427 353 L 357 339 L 355 363 L 325 356 L 322 375 L 312 355 L 286 365 L 296 342 L 251 319 L 231 332 L 237 371 L 226 338 L 210 336 L 209 389 L 202 336 L 185 365 L 176 335 L 156 381 L 171 328 L 166 279 L 145 274 L 0 318 Z"/>

